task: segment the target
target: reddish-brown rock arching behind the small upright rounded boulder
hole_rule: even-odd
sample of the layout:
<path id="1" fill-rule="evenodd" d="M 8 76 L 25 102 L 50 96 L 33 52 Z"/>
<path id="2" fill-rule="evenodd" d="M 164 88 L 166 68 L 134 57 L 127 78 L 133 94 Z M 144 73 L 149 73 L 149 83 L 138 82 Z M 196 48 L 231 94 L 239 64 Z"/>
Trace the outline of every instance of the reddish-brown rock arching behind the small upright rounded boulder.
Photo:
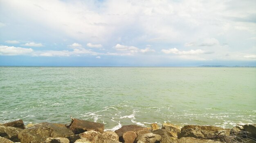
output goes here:
<path id="1" fill-rule="evenodd" d="M 128 131 L 134 131 L 137 133 L 139 131 L 139 134 L 141 134 L 142 132 L 148 133 L 148 128 L 144 128 L 144 127 L 137 126 L 137 125 L 125 125 L 125 126 L 122 126 L 120 129 L 115 130 L 115 133 L 117 133 L 117 135 L 119 136 L 119 139 L 120 139 L 120 137 L 122 137 L 123 134 Z"/>

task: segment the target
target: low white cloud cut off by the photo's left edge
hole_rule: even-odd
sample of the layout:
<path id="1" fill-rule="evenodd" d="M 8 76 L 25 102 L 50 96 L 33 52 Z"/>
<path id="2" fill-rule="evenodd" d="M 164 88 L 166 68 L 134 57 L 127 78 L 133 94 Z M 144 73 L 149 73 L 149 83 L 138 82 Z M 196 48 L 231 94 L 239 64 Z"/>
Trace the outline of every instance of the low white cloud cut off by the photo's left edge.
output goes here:
<path id="1" fill-rule="evenodd" d="M 31 48 L 20 48 L 20 47 L 9 47 L 6 45 L 0 46 L 0 55 L 15 56 L 15 55 L 26 55 L 31 54 L 33 49 Z"/>

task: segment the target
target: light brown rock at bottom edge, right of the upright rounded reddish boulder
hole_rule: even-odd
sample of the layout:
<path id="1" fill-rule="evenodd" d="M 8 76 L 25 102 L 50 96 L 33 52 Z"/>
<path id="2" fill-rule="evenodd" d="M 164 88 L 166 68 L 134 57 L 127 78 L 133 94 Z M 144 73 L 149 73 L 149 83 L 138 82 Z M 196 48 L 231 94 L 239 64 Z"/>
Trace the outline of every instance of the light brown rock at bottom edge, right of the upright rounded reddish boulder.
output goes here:
<path id="1" fill-rule="evenodd" d="M 137 137 L 137 141 L 143 141 L 145 143 L 157 143 L 161 140 L 161 136 L 159 134 L 147 133 L 147 134 L 140 134 Z"/>

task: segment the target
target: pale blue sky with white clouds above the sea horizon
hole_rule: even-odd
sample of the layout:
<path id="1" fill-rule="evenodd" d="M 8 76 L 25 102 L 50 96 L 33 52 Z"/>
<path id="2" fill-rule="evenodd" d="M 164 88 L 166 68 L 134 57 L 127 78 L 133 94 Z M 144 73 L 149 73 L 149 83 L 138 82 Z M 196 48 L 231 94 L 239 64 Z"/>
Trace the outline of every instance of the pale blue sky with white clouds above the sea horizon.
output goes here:
<path id="1" fill-rule="evenodd" d="M 0 65 L 256 66 L 256 0 L 0 0 Z"/>

